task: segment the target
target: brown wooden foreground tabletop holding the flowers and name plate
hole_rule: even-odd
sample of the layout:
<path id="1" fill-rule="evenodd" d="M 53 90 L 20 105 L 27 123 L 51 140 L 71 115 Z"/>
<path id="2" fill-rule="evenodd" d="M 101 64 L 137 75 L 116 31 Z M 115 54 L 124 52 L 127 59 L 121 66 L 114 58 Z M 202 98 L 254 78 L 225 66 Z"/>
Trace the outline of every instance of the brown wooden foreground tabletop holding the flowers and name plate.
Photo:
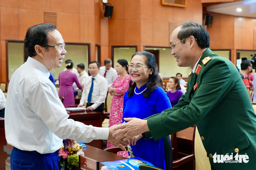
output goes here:
<path id="1" fill-rule="evenodd" d="M 105 150 L 94 148 L 94 147 L 88 146 L 88 145 L 86 145 L 86 146 L 87 146 L 87 149 L 83 149 L 85 156 L 89 157 L 93 160 L 96 160 L 96 161 L 107 162 L 107 161 L 117 161 L 117 160 L 127 159 L 126 157 L 122 157 L 122 156 L 110 153 L 108 151 L 105 151 Z M 6 151 L 9 154 L 12 153 L 12 149 L 13 149 L 12 145 L 4 146 L 4 151 Z M 102 163 L 100 163 L 100 169 L 102 166 L 104 166 L 104 165 Z"/>

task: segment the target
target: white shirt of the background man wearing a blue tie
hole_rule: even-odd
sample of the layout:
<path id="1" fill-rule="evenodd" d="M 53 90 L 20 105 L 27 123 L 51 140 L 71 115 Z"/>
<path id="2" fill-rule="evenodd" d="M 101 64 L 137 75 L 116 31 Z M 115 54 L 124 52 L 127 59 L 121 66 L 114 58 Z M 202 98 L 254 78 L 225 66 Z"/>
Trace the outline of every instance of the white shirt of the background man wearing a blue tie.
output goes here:
<path id="1" fill-rule="evenodd" d="M 80 100 L 80 104 L 83 106 L 86 103 L 88 103 L 88 95 L 90 88 L 92 86 L 92 78 L 93 80 L 93 92 L 92 92 L 92 98 L 90 103 L 94 103 L 92 105 L 93 110 L 95 110 L 97 107 L 99 107 L 102 103 L 105 102 L 105 99 L 107 97 L 108 92 L 108 81 L 102 77 L 99 73 L 93 77 L 89 76 L 85 80 L 85 86 L 83 88 L 82 97 Z"/>

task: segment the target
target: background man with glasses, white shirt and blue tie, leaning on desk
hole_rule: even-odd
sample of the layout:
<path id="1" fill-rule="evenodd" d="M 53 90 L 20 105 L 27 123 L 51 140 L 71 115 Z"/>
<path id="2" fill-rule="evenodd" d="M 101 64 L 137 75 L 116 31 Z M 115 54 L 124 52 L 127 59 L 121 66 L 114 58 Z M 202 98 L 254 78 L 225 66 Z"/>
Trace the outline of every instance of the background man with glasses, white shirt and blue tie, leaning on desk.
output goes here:
<path id="1" fill-rule="evenodd" d="M 82 107 L 85 102 L 88 111 L 104 111 L 104 102 L 108 92 L 108 81 L 99 74 L 100 63 L 92 61 L 89 64 L 89 76 L 85 80 L 82 97 L 78 107 Z"/>

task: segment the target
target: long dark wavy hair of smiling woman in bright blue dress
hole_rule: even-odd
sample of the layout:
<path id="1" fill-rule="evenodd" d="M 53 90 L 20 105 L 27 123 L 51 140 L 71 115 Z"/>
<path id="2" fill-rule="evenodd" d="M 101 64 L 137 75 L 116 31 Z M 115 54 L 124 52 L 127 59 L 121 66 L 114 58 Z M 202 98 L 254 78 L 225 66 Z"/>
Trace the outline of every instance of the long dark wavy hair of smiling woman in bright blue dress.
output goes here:
<path id="1" fill-rule="evenodd" d="M 144 61 L 148 68 L 153 68 L 153 73 L 149 75 L 148 82 L 146 83 L 146 87 L 148 88 L 148 91 L 146 93 L 143 93 L 143 97 L 149 97 L 149 95 L 157 88 L 157 86 L 160 86 L 160 76 L 158 75 L 158 71 L 156 69 L 156 60 L 155 56 L 147 51 L 139 51 L 133 54 L 132 59 L 134 56 L 139 55 L 144 57 Z M 145 68 L 142 68 L 145 69 Z M 128 88 L 128 96 L 132 97 L 135 89 L 136 83 L 132 80 L 129 83 L 130 87 Z"/>

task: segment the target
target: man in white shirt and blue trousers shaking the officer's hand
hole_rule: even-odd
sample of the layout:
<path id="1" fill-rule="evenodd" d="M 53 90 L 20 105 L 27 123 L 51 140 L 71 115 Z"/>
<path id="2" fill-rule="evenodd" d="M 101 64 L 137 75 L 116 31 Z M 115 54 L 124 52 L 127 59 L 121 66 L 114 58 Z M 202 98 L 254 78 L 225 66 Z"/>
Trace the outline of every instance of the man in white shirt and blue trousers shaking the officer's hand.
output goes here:
<path id="1" fill-rule="evenodd" d="M 11 169 L 59 169 L 58 150 L 79 140 L 110 140 L 113 128 L 87 126 L 68 119 L 50 70 L 61 67 L 65 43 L 55 25 L 38 24 L 27 30 L 27 61 L 12 75 L 5 108 L 6 140 L 13 145 Z M 123 143 L 121 143 L 123 144 Z M 120 145 L 117 143 L 115 145 Z"/>

